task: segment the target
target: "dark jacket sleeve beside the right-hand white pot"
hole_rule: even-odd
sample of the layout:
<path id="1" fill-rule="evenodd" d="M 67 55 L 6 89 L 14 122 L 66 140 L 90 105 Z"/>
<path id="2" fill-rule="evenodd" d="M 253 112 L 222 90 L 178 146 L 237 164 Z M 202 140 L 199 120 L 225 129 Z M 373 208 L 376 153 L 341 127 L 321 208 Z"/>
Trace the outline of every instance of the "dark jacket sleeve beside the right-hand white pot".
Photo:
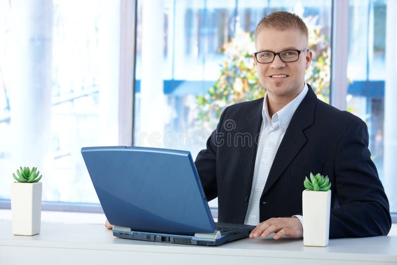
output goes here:
<path id="1" fill-rule="evenodd" d="M 333 194 L 339 207 L 331 209 L 330 237 L 387 235 L 392 225 L 389 201 L 371 160 L 362 120 L 351 123 L 342 136 L 334 172 Z"/>

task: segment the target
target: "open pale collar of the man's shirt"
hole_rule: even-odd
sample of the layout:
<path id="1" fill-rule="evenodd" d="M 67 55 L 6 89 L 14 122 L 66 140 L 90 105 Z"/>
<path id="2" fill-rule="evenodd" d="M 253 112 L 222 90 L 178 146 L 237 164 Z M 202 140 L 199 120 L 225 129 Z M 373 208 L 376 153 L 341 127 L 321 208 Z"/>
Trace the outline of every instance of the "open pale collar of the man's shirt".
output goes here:
<path id="1" fill-rule="evenodd" d="M 307 84 L 305 83 L 305 85 L 304 85 L 302 91 L 299 93 L 299 95 L 296 96 L 287 105 L 285 105 L 281 110 L 274 113 L 273 117 L 271 117 L 271 118 L 269 116 L 269 111 L 268 111 L 268 106 L 267 106 L 267 93 L 266 93 L 265 98 L 264 98 L 263 108 L 262 108 L 262 117 L 263 117 L 263 121 L 264 121 L 264 127 L 270 126 L 270 128 L 273 128 L 274 126 L 278 125 L 278 127 L 280 128 L 280 130 L 282 132 L 287 130 L 287 127 L 289 125 L 289 122 L 292 119 L 292 116 L 294 115 L 299 104 L 302 102 L 303 98 L 306 96 L 308 90 L 309 90 L 309 88 L 308 88 Z"/>

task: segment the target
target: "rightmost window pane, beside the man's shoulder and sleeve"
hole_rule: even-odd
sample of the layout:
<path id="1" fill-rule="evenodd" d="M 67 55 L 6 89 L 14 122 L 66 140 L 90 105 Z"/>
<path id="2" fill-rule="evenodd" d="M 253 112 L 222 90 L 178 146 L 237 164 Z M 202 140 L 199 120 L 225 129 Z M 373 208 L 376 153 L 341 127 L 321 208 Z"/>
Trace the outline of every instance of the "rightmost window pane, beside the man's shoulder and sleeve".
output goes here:
<path id="1" fill-rule="evenodd" d="M 389 198 L 390 211 L 397 212 L 396 171 L 397 128 L 395 81 L 396 30 L 393 11 L 387 0 L 349 1 L 349 52 L 347 110 L 367 123 L 369 149 L 379 178 Z M 392 15 L 390 15 L 392 14 Z M 390 43 L 387 46 L 387 43 Z"/>

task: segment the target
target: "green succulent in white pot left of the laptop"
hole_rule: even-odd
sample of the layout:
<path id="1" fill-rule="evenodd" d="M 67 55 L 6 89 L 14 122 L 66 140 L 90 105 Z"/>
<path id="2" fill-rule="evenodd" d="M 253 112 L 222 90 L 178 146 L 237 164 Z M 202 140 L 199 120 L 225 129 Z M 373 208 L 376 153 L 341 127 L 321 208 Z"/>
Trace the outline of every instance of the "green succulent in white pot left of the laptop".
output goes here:
<path id="1" fill-rule="evenodd" d="M 20 167 L 11 183 L 12 233 L 33 236 L 40 233 L 42 178 L 36 167 Z"/>

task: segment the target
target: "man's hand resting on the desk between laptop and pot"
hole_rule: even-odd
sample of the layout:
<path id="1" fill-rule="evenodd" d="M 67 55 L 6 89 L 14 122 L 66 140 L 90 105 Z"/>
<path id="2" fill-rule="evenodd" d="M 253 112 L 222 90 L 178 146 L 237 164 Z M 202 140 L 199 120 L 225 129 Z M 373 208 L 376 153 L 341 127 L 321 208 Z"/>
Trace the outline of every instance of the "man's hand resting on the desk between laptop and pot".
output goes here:
<path id="1" fill-rule="evenodd" d="M 303 235 L 303 227 L 297 217 L 270 218 L 260 223 L 251 232 L 250 238 L 267 237 L 271 233 L 276 233 L 273 239 L 282 236 L 300 238 Z"/>

